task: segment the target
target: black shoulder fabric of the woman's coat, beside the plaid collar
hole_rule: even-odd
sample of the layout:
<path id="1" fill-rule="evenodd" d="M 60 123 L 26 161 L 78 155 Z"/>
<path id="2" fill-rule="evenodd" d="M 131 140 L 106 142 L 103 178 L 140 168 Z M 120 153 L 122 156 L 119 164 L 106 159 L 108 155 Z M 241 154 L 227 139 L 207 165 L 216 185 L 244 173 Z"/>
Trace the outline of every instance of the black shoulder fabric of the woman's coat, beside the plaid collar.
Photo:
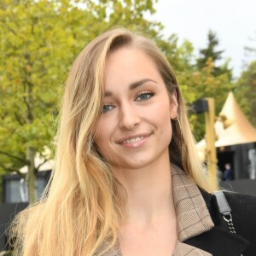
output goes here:
<path id="1" fill-rule="evenodd" d="M 211 214 L 214 228 L 184 243 L 201 248 L 214 256 L 256 256 L 256 197 L 224 192 L 230 204 L 236 234 L 230 233 L 218 212 L 215 196 L 201 189 Z"/>

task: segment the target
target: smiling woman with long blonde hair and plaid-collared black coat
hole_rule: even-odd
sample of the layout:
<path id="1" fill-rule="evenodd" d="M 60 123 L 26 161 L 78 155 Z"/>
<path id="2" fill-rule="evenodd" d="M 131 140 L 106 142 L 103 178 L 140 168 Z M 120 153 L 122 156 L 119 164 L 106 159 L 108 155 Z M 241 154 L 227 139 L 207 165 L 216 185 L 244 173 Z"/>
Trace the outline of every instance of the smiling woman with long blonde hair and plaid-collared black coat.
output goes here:
<path id="1" fill-rule="evenodd" d="M 140 35 L 106 32 L 73 63 L 48 195 L 16 219 L 15 252 L 254 255 L 255 199 L 226 195 L 244 238 L 231 234 L 201 170 L 165 56 Z"/>

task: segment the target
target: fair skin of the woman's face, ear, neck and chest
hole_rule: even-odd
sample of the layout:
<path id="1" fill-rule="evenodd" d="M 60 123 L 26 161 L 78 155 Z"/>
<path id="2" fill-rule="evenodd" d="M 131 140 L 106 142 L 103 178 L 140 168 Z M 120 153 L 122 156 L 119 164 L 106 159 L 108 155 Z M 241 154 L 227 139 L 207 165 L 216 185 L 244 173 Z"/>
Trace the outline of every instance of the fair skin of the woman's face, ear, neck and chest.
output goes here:
<path id="1" fill-rule="evenodd" d="M 177 218 L 168 145 L 177 98 L 169 96 L 154 61 L 124 47 L 108 56 L 105 97 L 95 142 L 127 192 L 119 229 L 123 256 L 172 255 Z"/>

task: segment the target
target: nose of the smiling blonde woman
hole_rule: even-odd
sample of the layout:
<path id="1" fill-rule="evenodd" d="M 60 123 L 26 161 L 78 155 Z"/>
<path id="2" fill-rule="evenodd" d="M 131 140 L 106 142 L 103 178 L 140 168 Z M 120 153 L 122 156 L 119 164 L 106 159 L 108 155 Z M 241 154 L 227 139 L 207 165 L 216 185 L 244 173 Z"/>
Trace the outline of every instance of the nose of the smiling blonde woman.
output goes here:
<path id="1" fill-rule="evenodd" d="M 131 105 L 125 105 L 119 111 L 119 128 L 123 130 L 134 130 L 141 122 L 137 109 Z"/>

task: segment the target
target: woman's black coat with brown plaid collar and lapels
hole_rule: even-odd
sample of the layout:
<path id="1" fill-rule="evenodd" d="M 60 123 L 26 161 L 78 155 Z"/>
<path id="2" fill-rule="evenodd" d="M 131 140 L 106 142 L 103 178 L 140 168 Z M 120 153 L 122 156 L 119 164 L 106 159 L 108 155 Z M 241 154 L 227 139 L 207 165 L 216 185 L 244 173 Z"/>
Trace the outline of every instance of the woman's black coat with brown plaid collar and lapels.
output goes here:
<path id="1" fill-rule="evenodd" d="M 215 198 L 199 189 L 183 170 L 172 165 L 173 201 L 177 212 L 177 246 L 172 256 L 255 256 L 256 198 L 225 192 L 236 234 L 218 214 Z M 102 245 L 99 252 L 108 246 Z M 96 253 L 97 255 L 98 253 Z M 104 256 L 122 256 L 117 243 Z M 132 256 L 132 255 L 131 255 Z"/>

